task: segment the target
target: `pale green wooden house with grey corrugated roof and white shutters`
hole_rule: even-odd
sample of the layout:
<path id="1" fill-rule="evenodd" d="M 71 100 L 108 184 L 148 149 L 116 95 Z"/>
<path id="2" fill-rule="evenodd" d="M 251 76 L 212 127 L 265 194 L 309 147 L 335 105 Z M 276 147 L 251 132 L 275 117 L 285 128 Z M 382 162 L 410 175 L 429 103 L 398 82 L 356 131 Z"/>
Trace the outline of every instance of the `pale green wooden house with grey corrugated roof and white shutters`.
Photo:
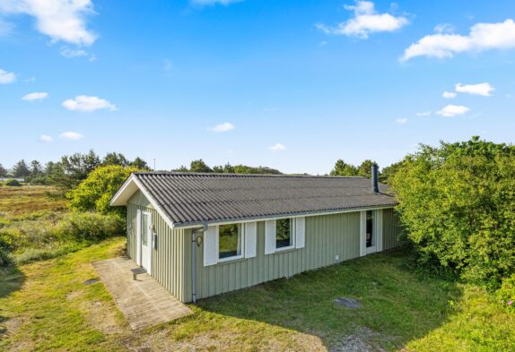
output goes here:
<path id="1" fill-rule="evenodd" d="M 135 173 L 127 254 L 182 302 L 400 245 L 386 185 L 363 177 Z"/>

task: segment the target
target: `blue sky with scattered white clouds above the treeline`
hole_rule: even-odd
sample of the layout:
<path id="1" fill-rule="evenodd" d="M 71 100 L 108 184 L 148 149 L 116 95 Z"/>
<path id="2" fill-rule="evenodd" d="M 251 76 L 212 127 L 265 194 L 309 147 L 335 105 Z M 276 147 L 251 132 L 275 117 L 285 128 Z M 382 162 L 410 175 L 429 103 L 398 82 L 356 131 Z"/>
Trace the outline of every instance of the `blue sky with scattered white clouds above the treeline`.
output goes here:
<path id="1" fill-rule="evenodd" d="M 94 149 L 324 174 L 514 142 L 514 18 L 512 1 L 2 0 L 0 163 Z"/>

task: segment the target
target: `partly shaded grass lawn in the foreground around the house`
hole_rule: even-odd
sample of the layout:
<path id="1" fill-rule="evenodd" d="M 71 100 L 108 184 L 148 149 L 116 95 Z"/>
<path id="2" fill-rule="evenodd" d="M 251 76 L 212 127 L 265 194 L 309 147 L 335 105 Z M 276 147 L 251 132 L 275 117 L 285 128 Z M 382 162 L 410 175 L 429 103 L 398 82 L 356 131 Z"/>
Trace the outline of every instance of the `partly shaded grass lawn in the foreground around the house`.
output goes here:
<path id="1" fill-rule="evenodd" d="M 83 283 L 123 244 L 0 273 L 0 350 L 515 350 L 515 314 L 479 288 L 415 273 L 403 252 L 201 300 L 188 317 L 134 332 L 101 282 Z"/>

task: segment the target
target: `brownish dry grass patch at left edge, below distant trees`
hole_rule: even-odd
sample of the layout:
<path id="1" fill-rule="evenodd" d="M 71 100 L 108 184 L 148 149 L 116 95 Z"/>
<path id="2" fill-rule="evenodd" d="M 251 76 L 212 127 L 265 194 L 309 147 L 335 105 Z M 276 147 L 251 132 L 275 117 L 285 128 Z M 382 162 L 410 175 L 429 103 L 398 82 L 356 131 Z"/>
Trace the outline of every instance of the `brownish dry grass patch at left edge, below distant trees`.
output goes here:
<path id="1" fill-rule="evenodd" d="M 51 186 L 23 185 L 0 186 L 0 215 L 12 217 L 34 212 L 61 212 L 66 209 L 66 200 Z"/>

